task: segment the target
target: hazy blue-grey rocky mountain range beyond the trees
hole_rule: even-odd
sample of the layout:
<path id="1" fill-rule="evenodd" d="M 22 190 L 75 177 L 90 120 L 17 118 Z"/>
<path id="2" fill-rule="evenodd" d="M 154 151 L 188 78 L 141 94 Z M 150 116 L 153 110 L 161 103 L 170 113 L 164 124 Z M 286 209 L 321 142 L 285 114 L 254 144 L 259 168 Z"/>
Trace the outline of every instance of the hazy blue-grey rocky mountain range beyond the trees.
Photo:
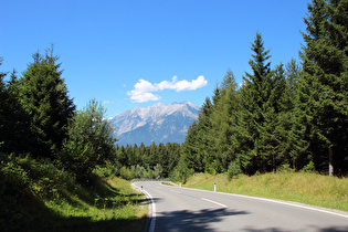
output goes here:
<path id="1" fill-rule="evenodd" d="M 110 119 L 116 128 L 117 145 L 145 146 L 184 141 L 189 126 L 198 118 L 199 108 L 190 102 L 126 110 Z"/>

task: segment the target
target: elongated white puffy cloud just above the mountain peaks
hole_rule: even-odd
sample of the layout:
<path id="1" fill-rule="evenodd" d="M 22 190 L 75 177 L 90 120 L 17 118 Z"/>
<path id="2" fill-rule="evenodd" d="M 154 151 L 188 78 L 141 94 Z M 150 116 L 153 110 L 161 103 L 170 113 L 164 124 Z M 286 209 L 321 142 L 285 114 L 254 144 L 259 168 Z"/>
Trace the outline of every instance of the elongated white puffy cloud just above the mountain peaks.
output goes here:
<path id="1" fill-rule="evenodd" d="M 204 87 L 208 84 L 208 81 L 204 76 L 198 76 L 192 81 L 178 81 L 177 76 L 171 78 L 171 82 L 162 81 L 160 83 L 150 83 L 145 80 L 139 80 L 135 85 L 134 89 L 127 92 L 127 95 L 130 96 L 130 99 L 136 103 L 144 103 L 149 101 L 158 101 L 161 97 L 154 94 L 154 92 L 159 92 L 164 89 L 175 89 L 177 92 L 181 91 L 194 91 L 197 88 Z"/>

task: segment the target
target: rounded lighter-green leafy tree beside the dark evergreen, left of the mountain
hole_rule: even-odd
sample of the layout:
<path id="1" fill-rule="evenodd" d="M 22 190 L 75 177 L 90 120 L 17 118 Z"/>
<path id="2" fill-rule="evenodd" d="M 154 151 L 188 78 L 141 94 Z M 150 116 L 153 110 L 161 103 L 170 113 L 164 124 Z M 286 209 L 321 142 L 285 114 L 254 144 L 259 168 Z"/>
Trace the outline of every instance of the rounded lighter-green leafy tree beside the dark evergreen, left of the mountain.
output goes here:
<path id="1" fill-rule="evenodd" d="M 59 160 L 63 167 L 76 173 L 78 180 L 87 180 L 94 168 L 114 154 L 116 139 L 104 114 L 103 106 L 91 101 L 70 124 L 68 139 L 63 144 Z"/>

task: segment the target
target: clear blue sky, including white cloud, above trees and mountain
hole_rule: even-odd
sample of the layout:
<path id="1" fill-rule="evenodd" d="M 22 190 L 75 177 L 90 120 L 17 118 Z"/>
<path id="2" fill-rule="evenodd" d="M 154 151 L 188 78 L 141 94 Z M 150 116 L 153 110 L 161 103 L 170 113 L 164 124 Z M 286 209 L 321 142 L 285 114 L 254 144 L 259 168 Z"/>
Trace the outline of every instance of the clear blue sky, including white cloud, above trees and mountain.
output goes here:
<path id="1" fill-rule="evenodd" d="M 114 117 L 156 103 L 200 107 L 230 68 L 251 73 L 261 33 L 275 67 L 298 60 L 309 0 L 0 0 L 0 72 L 54 44 L 77 109 Z"/>

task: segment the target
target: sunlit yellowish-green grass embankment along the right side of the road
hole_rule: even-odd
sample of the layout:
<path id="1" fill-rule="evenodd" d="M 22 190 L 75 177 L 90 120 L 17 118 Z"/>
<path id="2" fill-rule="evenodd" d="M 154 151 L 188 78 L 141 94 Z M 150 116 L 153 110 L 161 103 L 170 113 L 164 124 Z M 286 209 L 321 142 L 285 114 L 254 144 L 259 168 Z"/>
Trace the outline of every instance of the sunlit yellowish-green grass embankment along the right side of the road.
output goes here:
<path id="1" fill-rule="evenodd" d="M 317 207 L 348 211 L 348 179 L 307 172 L 239 176 L 197 173 L 184 187 L 295 201 Z"/>

